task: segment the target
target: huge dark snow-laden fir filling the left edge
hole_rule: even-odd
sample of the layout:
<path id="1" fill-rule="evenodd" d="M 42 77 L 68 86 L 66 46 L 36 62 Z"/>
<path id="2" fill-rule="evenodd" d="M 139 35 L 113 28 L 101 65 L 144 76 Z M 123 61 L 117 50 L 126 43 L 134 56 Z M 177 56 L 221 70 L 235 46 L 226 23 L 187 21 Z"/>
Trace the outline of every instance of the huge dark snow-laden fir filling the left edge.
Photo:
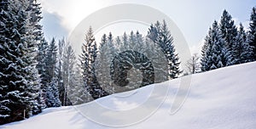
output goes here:
<path id="1" fill-rule="evenodd" d="M 41 112 L 33 1 L 1 1 L 1 124 Z"/>

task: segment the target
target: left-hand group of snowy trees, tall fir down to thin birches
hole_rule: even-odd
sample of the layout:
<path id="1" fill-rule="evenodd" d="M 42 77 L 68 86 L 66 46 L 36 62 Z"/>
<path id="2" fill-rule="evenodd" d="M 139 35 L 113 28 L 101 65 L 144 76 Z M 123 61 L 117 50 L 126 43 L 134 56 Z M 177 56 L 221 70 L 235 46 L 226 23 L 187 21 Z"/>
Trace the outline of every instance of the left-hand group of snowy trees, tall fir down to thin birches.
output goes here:
<path id="1" fill-rule="evenodd" d="M 0 8 L 0 124 L 71 104 L 66 89 L 82 83 L 76 57 L 64 39 L 44 39 L 40 4 L 2 0 Z"/>

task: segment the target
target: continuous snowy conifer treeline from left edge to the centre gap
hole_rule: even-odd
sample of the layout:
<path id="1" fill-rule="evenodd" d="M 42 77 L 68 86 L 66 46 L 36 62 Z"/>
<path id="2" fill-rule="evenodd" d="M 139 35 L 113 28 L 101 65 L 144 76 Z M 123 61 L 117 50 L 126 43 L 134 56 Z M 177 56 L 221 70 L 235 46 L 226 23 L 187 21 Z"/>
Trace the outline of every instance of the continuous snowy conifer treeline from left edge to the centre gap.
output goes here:
<path id="1" fill-rule="evenodd" d="M 135 68 L 140 70 L 138 73 L 143 72 L 144 76 L 142 85 L 132 87 L 138 82 L 129 78 L 131 76 L 127 78 L 127 72 L 121 73 L 124 77 L 121 79 L 130 79 L 128 90 L 177 78 L 181 73 L 172 35 L 165 21 L 151 25 L 147 36 L 131 31 L 129 35 L 114 38 L 110 32 L 108 36 L 103 35 L 99 43 L 96 43 L 90 28 L 86 33 L 82 53 L 77 59 L 73 48 L 64 38 L 60 41 L 53 38 L 49 42 L 44 39 L 43 26 L 39 24 L 42 20 L 41 6 L 36 0 L 2 0 L 0 8 L 0 124 L 24 120 L 45 108 L 83 104 L 115 93 L 113 89 L 104 86 L 109 76 L 96 78 L 101 73 L 109 73 L 109 70 L 97 68 L 111 65 L 110 72 L 117 77 L 119 72 L 114 72 L 117 64 L 113 64 L 112 59 L 122 51 L 133 49 L 137 52 L 122 53 L 124 57 L 131 54 L 130 58 L 126 58 L 131 59 L 131 62 L 125 60 L 128 63 L 125 66 L 129 69 L 120 71 Z M 97 44 L 100 44 L 99 47 Z M 154 51 L 155 48 L 159 48 L 162 55 Z M 154 59 L 164 57 L 166 67 L 147 59 L 147 56 Z M 121 66 L 122 62 L 116 60 Z M 155 68 L 159 66 L 159 70 L 154 70 L 152 64 L 155 64 Z M 164 76 L 154 81 L 154 72 Z M 113 79 L 113 76 L 110 78 Z M 107 82 L 101 86 L 104 81 Z M 115 83 L 119 82 L 115 79 Z M 125 82 L 122 86 L 129 83 Z"/>

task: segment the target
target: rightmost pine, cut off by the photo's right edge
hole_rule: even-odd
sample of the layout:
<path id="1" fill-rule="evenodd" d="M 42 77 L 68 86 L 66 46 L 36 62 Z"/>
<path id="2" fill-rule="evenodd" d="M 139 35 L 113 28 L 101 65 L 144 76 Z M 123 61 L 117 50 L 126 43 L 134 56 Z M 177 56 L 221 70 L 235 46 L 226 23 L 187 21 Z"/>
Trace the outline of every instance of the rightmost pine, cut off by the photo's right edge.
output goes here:
<path id="1" fill-rule="evenodd" d="M 250 45 L 250 48 L 253 49 L 253 57 L 250 60 L 256 60 L 256 7 L 253 7 L 250 23 L 249 23 L 249 31 L 248 31 L 248 39 L 247 42 Z"/>

